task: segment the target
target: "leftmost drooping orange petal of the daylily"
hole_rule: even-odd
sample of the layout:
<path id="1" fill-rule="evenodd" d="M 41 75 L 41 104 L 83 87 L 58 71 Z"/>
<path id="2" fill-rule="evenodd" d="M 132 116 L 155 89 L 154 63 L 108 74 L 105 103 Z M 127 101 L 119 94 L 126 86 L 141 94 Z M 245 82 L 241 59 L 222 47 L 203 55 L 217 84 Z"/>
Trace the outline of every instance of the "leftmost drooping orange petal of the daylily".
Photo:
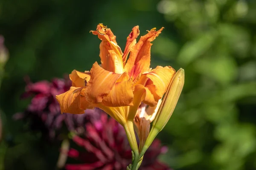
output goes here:
<path id="1" fill-rule="evenodd" d="M 71 87 L 69 91 L 57 95 L 61 113 L 72 113 L 72 114 L 82 114 L 84 109 L 81 109 L 81 90 L 83 88 Z M 83 102 L 84 99 L 83 99 Z M 86 108 L 86 107 L 84 107 Z"/>

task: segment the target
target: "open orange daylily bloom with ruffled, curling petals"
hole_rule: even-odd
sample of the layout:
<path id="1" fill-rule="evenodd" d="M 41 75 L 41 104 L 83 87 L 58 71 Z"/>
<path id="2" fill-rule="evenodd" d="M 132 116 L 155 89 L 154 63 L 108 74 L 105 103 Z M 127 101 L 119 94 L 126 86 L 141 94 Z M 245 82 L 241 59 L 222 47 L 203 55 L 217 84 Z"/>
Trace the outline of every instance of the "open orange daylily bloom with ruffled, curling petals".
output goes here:
<path id="1" fill-rule="evenodd" d="M 175 74 L 170 66 L 150 68 L 151 41 L 162 30 L 153 28 L 136 42 L 140 30 L 135 26 L 127 37 L 124 52 L 110 28 L 99 24 L 96 31 L 90 31 L 102 41 L 101 66 L 95 62 L 90 71 L 72 71 L 73 87 L 56 96 L 61 112 L 80 114 L 98 107 L 124 125 L 134 120 L 141 102 L 151 107 L 157 105 Z"/>

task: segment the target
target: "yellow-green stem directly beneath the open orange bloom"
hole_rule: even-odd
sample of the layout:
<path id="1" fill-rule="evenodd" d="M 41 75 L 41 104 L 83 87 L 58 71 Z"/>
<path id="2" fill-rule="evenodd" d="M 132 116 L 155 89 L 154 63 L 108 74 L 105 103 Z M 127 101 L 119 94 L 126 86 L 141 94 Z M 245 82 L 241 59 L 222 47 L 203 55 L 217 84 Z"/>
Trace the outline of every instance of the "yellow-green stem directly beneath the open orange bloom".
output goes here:
<path id="1" fill-rule="evenodd" d="M 138 144 L 136 141 L 136 136 L 134 133 L 134 125 L 132 121 L 127 121 L 127 123 L 124 125 L 125 132 L 129 141 L 129 144 L 131 146 L 131 150 L 134 153 L 134 159 L 132 160 L 132 167 L 131 170 L 137 170 L 138 163 L 140 161 L 139 159 L 139 150 L 138 150 Z"/>

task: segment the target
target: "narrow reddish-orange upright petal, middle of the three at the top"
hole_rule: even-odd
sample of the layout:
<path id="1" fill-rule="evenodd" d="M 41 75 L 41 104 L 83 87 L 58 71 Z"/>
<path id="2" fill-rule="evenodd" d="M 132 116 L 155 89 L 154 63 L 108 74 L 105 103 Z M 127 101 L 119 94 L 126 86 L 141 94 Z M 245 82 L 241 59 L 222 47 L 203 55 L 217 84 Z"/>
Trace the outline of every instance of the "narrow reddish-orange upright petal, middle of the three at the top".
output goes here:
<path id="1" fill-rule="evenodd" d="M 124 51 L 124 54 L 122 57 L 124 65 L 125 65 L 125 62 L 126 62 L 129 52 L 131 51 L 133 46 L 136 44 L 136 38 L 139 36 L 139 34 L 140 34 L 139 26 L 135 26 L 134 28 L 132 28 L 131 33 L 127 37 L 125 51 Z"/>

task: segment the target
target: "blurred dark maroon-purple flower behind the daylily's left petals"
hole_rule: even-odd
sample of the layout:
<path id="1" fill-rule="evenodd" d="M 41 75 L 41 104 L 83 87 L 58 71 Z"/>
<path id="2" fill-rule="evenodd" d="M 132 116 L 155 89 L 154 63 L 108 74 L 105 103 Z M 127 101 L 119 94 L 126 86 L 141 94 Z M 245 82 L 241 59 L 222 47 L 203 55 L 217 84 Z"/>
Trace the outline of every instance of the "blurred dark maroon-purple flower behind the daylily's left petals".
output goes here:
<path id="1" fill-rule="evenodd" d="M 91 113 L 88 109 L 85 114 L 75 115 L 60 112 L 60 107 L 55 96 L 68 91 L 71 81 L 67 78 L 55 78 L 51 82 L 40 81 L 32 83 L 26 80 L 26 92 L 21 99 L 32 96 L 31 103 L 23 113 L 16 113 L 14 119 L 24 119 L 30 122 L 31 130 L 40 130 L 46 139 L 54 139 L 63 130 L 63 125 L 68 131 L 84 127 L 84 122 L 89 121 Z"/>

